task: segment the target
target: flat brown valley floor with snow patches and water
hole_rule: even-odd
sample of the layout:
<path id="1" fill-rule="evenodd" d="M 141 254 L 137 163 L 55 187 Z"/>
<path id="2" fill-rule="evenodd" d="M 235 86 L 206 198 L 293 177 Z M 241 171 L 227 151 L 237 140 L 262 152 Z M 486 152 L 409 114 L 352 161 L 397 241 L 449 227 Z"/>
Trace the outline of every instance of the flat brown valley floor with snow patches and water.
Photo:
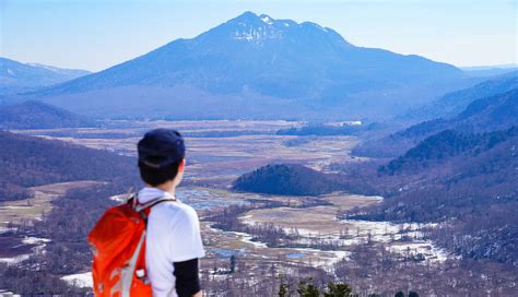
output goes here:
<path id="1" fill-rule="evenodd" d="M 260 280 L 260 275 L 264 276 L 266 271 L 272 266 L 275 268 L 275 275 L 290 274 L 301 268 L 319 269 L 334 274 L 337 268 L 340 268 L 337 265 L 340 261 L 361 266 L 357 249 L 363 247 L 381 247 L 384 257 L 423 266 L 456 259 L 427 239 L 426 230 L 433 228 L 433 224 L 348 221 L 337 216 L 344 210 L 379 203 L 381 197 L 343 192 L 320 197 L 281 197 L 231 190 L 232 181 L 238 176 L 270 163 L 297 163 L 327 170 L 327 165 L 333 162 L 362 162 L 350 155 L 351 148 L 358 143 L 354 136 L 274 134 L 278 129 L 301 124 L 285 121 L 118 121 L 99 129 L 16 132 L 59 139 L 130 156 L 136 155 L 139 138 L 152 128 L 175 128 L 187 134 L 187 169 L 184 186 L 178 189 L 177 197 L 197 209 L 201 218 L 201 233 L 208 252 L 202 261 L 205 283 L 220 286 L 227 277 L 234 277 L 228 273 L 231 257 L 237 259 L 240 275 L 250 284 Z M 236 135 L 215 136 L 215 133 L 222 131 Z M 298 138 L 305 138 L 306 141 L 297 145 L 289 142 Z M 35 187 L 32 189 L 32 199 L 0 204 L 0 227 L 3 227 L 5 234 L 10 223 L 42 219 L 42 215 L 52 206 L 51 201 L 59 199 L 67 190 L 97 183 L 98 181 L 73 181 Z M 106 199 L 122 201 L 125 195 L 121 193 Z M 284 237 L 281 236 L 279 243 L 272 246 L 261 240 L 261 234 L 215 227 L 214 223 L 217 222 L 213 219 L 214 215 L 231 205 L 249 207 L 236 214 L 236 222 L 242 228 L 272 226 L 282 230 Z M 0 261 L 17 261 L 20 258 L 16 257 L 36 253 L 45 248 L 45 239 L 37 242 L 27 240 L 13 238 L 9 245 L 2 245 L 0 258 L 3 260 Z M 9 249 L 16 245 L 26 248 L 9 253 Z M 62 275 L 61 278 L 80 287 L 91 285 L 87 266 L 73 274 Z"/>

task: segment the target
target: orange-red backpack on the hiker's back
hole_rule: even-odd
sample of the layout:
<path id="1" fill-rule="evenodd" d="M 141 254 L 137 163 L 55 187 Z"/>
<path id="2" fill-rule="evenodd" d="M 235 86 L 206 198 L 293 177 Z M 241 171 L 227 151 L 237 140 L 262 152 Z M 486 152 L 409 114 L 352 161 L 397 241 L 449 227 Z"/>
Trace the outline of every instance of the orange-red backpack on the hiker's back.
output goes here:
<path id="1" fill-rule="evenodd" d="M 151 296 L 145 270 L 145 227 L 151 207 L 170 198 L 107 210 L 89 234 L 95 296 Z"/>

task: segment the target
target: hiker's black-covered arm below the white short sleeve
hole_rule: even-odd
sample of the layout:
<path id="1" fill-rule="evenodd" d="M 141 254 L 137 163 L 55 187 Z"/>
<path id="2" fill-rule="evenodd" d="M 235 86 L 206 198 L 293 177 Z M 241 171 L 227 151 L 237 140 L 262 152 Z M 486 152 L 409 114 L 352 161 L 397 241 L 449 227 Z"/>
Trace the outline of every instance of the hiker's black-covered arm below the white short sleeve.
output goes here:
<path id="1" fill-rule="evenodd" d="M 176 293 L 179 297 L 201 297 L 198 258 L 183 262 L 174 262 Z"/>

